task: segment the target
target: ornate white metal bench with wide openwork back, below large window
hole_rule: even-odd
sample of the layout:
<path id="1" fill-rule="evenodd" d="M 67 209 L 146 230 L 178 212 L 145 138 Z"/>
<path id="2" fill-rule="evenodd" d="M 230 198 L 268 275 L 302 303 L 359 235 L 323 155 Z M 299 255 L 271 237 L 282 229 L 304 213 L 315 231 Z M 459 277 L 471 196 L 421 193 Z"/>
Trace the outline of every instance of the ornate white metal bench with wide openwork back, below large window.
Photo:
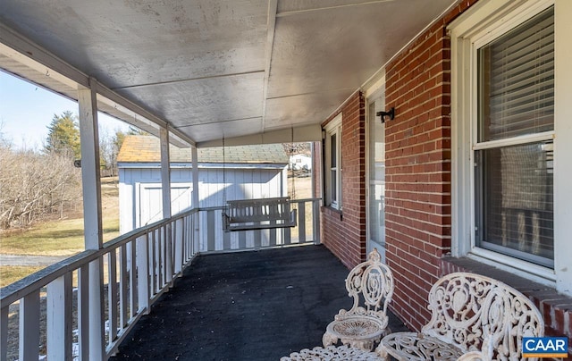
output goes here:
<path id="1" fill-rule="evenodd" d="M 450 273 L 429 292 L 421 332 L 396 332 L 376 352 L 397 360 L 519 360 L 523 337 L 544 334 L 543 316 L 512 287 L 475 273 Z M 534 360 L 535 358 L 527 358 Z"/>

